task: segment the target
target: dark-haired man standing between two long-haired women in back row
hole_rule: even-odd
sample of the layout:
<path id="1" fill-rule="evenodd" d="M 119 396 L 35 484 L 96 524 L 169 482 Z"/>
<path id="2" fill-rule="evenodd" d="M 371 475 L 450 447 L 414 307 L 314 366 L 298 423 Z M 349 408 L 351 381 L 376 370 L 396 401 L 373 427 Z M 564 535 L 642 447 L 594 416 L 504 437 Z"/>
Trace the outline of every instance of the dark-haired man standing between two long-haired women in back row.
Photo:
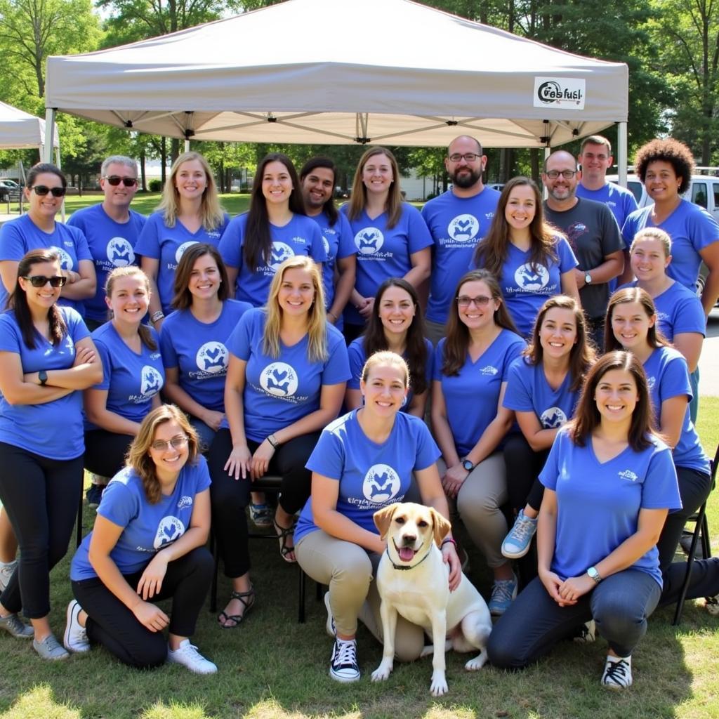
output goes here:
<path id="1" fill-rule="evenodd" d="M 322 263 L 327 320 L 342 330 L 342 311 L 354 288 L 357 247 L 349 220 L 334 206 L 334 176 L 334 162 L 329 157 L 313 157 L 300 170 L 305 211 L 319 224 L 327 253 Z"/>

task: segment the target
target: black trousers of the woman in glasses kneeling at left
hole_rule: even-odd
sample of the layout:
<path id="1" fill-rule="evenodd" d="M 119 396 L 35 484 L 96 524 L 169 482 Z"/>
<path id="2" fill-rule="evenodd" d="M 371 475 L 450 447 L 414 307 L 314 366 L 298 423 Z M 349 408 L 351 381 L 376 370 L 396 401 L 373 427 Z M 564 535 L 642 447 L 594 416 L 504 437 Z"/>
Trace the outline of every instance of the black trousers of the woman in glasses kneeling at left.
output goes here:
<path id="1" fill-rule="evenodd" d="M 151 601 L 172 598 L 171 634 L 189 637 L 195 633 L 197 617 L 207 596 L 213 571 L 214 560 L 203 546 L 168 564 L 162 591 Z M 142 577 L 142 571 L 123 576 L 134 588 Z M 164 633 L 150 631 L 139 623 L 132 611 L 99 578 L 73 581 L 72 585 L 75 599 L 88 614 L 86 630 L 90 641 L 102 644 L 124 664 L 137 669 L 150 669 L 165 661 L 168 643 Z"/>

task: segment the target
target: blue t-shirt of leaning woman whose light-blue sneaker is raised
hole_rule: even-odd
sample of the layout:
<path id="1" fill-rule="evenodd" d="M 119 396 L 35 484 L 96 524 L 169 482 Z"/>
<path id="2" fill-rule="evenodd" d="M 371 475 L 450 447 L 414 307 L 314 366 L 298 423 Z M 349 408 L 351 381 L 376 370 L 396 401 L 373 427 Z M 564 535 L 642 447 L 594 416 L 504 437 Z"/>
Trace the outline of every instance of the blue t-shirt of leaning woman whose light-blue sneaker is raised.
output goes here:
<path id="1" fill-rule="evenodd" d="M 553 390 L 546 381 L 541 362 L 531 365 L 526 357 L 518 357 L 509 368 L 507 389 L 502 406 L 517 412 L 536 414 L 542 429 L 557 429 L 574 416 L 581 390 L 572 392 L 572 372 Z"/>

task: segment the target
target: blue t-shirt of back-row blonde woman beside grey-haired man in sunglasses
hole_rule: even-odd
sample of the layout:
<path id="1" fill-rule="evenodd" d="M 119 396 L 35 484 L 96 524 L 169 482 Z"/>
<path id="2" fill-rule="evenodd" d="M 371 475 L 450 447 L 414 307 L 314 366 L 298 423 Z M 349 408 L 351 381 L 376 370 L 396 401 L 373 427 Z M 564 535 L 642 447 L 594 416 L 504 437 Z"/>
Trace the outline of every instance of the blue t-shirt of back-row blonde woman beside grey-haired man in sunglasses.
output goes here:
<path id="1" fill-rule="evenodd" d="M 135 252 L 160 262 L 157 268 L 157 292 L 160 293 L 160 304 L 165 314 L 173 311 L 175 270 L 185 250 L 197 242 L 217 247 L 228 223 L 229 216 L 225 215 L 222 224 L 213 230 L 208 231 L 201 226 L 197 232 L 190 232 L 179 220 L 175 221 L 174 227 L 168 227 L 162 212 L 153 212 L 147 218 L 137 239 Z"/>

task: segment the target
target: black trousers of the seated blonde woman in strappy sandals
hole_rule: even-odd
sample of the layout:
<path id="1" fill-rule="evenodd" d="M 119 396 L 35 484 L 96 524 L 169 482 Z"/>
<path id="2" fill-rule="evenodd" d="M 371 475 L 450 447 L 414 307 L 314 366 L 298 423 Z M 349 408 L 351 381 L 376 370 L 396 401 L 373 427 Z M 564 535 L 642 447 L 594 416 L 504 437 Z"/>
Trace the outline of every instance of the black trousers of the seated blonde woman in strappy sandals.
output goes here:
<path id="1" fill-rule="evenodd" d="M 312 472 L 305 468 L 312 450 L 319 439 L 319 432 L 303 434 L 280 444 L 270 466 L 268 475 L 280 475 L 280 506 L 288 514 L 303 508 L 312 487 Z M 247 441 L 250 452 L 255 452 L 259 442 Z M 220 429 L 210 447 L 208 464 L 212 484 L 212 526 L 224 562 L 226 577 L 242 577 L 249 571 L 249 549 L 247 547 L 247 517 L 244 510 L 249 504 L 252 483 L 230 477 L 224 465 L 232 452 L 232 435 L 229 429 Z"/>

